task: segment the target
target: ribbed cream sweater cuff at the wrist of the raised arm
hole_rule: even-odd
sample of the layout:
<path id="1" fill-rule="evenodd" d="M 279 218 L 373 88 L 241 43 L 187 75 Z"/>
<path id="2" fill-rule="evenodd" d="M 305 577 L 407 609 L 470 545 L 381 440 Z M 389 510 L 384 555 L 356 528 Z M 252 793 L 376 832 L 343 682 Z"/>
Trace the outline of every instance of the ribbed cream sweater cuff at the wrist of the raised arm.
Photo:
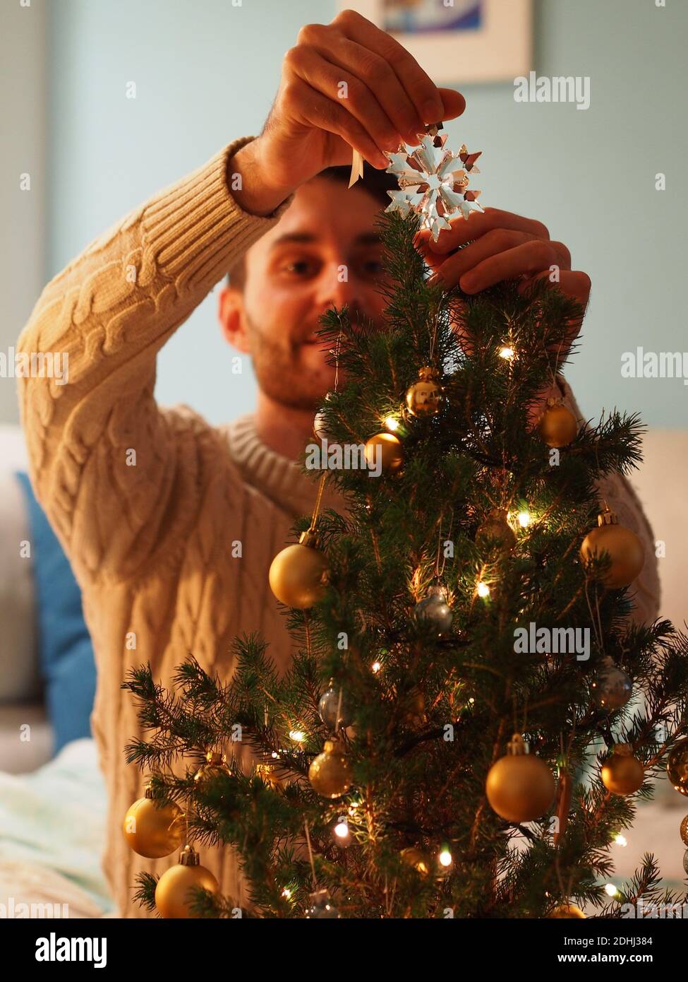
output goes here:
<path id="1" fill-rule="evenodd" d="M 261 217 L 243 211 L 232 196 L 227 162 L 254 138 L 236 139 L 145 209 L 144 248 L 180 292 L 210 289 L 291 204 L 289 197 L 272 215 Z"/>

